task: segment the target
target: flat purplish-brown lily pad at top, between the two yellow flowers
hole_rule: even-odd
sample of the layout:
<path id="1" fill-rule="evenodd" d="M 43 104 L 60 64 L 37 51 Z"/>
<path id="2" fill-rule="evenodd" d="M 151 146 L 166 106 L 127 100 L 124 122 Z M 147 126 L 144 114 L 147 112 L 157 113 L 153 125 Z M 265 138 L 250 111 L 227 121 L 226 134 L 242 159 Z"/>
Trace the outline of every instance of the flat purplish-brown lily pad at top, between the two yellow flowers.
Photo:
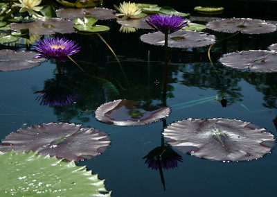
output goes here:
<path id="1" fill-rule="evenodd" d="M 107 8 L 62 8 L 57 10 L 57 17 L 62 19 L 76 19 L 82 17 L 96 17 L 98 20 L 116 18 L 116 10 Z"/>

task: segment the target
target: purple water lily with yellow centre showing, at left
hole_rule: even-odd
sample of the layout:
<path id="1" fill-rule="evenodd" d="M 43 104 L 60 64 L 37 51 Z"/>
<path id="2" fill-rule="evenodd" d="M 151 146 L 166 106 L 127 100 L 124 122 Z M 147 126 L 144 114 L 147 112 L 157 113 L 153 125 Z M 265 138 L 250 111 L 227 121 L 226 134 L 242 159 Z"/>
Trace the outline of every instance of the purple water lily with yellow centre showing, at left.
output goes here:
<path id="1" fill-rule="evenodd" d="M 64 62 L 66 56 L 78 53 L 80 46 L 75 44 L 72 40 L 67 40 L 65 37 L 59 39 L 59 37 L 45 38 L 37 42 L 37 46 L 34 46 L 37 51 L 41 54 L 35 56 L 34 58 L 56 58 Z"/>

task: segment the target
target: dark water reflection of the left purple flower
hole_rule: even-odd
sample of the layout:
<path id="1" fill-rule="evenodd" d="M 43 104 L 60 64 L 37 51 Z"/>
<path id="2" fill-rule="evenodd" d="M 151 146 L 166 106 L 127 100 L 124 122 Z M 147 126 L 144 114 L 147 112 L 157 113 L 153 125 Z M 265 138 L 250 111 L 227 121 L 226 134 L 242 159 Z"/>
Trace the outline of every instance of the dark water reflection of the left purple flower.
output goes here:
<path id="1" fill-rule="evenodd" d="M 40 105 L 53 106 L 65 106 L 71 105 L 75 102 L 75 99 L 80 98 L 78 94 L 74 92 L 59 92 L 59 91 L 42 91 L 42 94 L 37 96 L 37 101 L 40 101 Z"/>

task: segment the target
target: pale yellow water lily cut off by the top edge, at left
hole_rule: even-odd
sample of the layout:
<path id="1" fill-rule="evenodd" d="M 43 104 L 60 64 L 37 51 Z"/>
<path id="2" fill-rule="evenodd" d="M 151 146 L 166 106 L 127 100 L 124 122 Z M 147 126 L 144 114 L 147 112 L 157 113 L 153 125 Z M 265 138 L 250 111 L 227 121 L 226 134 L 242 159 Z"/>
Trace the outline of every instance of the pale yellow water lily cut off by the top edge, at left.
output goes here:
<path id="1" fill-rule="evenodd" d="M 42 10 L 42 6 L 38 6 L 40 3 L 42 3 L 42 0 L 19 0 L 20 3 L 14 3 L 12 6 L 14 7 L 20 7 L 21 9 L 19 12 L 28 12 L 28 14 L 35 15 L 37 14 L 34 11 Z"/>

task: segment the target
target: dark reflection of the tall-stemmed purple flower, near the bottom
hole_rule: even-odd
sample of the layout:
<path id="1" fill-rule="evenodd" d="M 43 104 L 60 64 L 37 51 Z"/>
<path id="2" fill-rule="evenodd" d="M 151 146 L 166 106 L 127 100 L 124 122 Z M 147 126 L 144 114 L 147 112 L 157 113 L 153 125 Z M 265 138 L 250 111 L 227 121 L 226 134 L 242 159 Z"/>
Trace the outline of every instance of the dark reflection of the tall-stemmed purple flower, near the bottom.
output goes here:
<path id="1" fill-rule="evenodd" d="M 143 157 L 143 159 L 145 158 L 145 164 L 148 164 L 148 168 L 155 170 L 159 169 L 159 164 L 162 169 L 174 169 L 178 167 L 178 162 L 183 162 L 181 155 L 173 151 L 170 146 L 154 148 L 148 155 Z"/>

